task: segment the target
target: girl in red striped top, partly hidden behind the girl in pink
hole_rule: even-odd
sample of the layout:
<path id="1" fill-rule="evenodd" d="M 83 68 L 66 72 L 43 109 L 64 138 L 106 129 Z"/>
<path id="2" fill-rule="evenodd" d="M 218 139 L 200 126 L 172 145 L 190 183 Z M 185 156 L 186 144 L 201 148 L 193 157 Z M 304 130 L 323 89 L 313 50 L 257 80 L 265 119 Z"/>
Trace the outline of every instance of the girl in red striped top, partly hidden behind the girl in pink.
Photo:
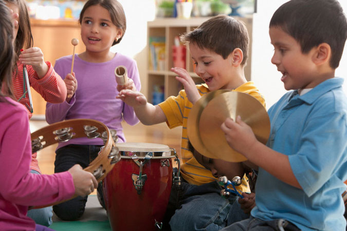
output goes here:
<path id="1" fill-rule="evenodd" d="M 32 47 L 33 37 L 30 27 L 30 18 L 24 0 L 5 0 L 8 8 L 19 14 L 18 24 L 14 27 L 14 68 L 12 72 L 12 89 L 15 100 L 27 106 L 29 119 L 32 117 L 29 95 L 24 94 L 23 73 L 27 69 L 30 86 L 37 91 L 42 98 L 50 103 L 62 103 L 66 99 L 66 86 L 62 78 L 54 71 L 49 62 L 45 62 L 40 48 Z M 24 49 L 23 52 L 21 49 Z M 29 86 L 27 86 L 29 87 Z M 32 153 L 30 171 L 41 174 L 37 153 Z M 52 207 L 32 209 L 28 216 L 36 223 L 49 226 L 52 223 Z"/>

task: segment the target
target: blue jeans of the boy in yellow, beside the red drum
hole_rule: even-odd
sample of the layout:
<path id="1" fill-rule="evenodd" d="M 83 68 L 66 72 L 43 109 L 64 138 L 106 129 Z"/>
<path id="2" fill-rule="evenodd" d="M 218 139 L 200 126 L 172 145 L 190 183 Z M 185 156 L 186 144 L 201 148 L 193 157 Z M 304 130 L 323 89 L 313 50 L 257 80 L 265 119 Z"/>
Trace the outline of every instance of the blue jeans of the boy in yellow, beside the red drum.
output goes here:
<path id="1" fill-rule="evenodd" d="M 169 222 L 171 230 L 214 231 L 225 227 L 230 206 L 237 197 L 231 195 L 225 199 L 221 190 L 216 181 L 203 185 L 182 181 L 179 189 L 173 187 L 166 214 L 173 214 Z"/>

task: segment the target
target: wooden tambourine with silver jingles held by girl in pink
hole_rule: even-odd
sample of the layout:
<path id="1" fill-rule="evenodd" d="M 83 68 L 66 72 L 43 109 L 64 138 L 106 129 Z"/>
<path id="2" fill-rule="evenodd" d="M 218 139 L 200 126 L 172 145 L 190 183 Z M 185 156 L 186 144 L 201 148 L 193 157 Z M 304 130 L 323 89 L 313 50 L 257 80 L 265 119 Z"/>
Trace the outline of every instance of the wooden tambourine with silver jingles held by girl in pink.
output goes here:
<path id="1" fill-rule="evenodd" d="M 87 137 L 89 139 L 101 138 L 104 146 L 100 149 L 98 157 L 83 170 L 91 172 L 98 182 L 103 180 L 121 157 L 116 147 L 116 130 L 110 130 L 103 123 L 90 119 L 73 119 L 54 123 L 31 133 L 32 152 L 39 151 L 52 144 L 66 142 L 70 139 Z M 77 197 L 74 195 L 72 198 Z M 72 199 L 70 198 L 70 199 Z M 70 200 L 69 199 L 69 200 Z M 64 200 L 67 201 L 67 200 Z M 59 204 L 56 202 L 50 205 Z M 39 206 L 40 207 L 46 207 Z"/>

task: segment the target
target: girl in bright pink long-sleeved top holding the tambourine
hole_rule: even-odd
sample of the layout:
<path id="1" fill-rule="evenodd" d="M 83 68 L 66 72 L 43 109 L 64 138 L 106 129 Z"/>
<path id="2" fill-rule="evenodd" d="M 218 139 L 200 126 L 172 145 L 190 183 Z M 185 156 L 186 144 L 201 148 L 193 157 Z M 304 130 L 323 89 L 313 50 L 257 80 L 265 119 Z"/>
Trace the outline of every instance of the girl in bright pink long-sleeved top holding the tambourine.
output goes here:
<path id="1" fill-rule="evenodd" d="M 95 177 L 81 166 L 53 175 L 31 174 L 28 114 L 17 103 L 11 86 L 13 26 L 0 2 L 0 227 L 2 230 L 51 230 L 27 217 L 29 206 L 40 206 L 74 194 L 85 196 L 97 187 Z"/>

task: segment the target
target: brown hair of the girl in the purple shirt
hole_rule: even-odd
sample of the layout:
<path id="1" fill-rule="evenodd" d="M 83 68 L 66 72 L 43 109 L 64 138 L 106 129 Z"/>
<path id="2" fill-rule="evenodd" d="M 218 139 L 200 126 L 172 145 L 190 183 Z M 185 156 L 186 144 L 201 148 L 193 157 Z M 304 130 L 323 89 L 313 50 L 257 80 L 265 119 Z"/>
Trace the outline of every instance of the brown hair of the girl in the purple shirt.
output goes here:
<path id="1" fill-rule="evenodd" d="M 126 30 L 126 18 L 125 18 L 123 6 L 117 0 L 88 0 L 84 4 L 82 11 L 80 13 L 80 19 L 79 19 L 80 24 L 82 24 L 84 11 L 88 9 L 88 7 L 95 6 L 95 5 L 100 5 L 101 7 L 108 10 L 109 15 L 111 16 L 112 23 L 116 27 L 122 30 L 123 32 L 122 36 L 117 41 L 114 41 L 112 46 L 118 44 L 122 40 Z"/>

